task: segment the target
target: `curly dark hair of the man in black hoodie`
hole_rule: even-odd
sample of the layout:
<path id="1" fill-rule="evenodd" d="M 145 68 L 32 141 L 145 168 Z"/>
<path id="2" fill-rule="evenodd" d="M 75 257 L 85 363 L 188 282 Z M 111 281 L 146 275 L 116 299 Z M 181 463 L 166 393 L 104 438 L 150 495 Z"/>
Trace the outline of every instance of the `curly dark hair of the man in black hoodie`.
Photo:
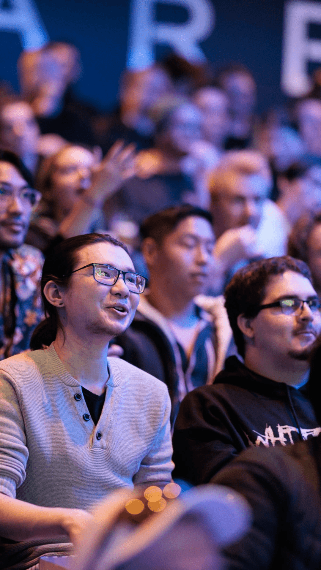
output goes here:
<path id="1" fill-rule="evenodd" d="M 239 269 L 228 283 L 224 292 L 225 307 L 240 356 L 244 357 L 245 343 L 243 333 L 238 327 L 238 316 L 243 314 L 249 319 L 256 317 L 270 278 L 273 275 L 282 275 L 286 271 L 300 273 L 312 283 L 307 264 L 290 255 L 249 263 Z"/>

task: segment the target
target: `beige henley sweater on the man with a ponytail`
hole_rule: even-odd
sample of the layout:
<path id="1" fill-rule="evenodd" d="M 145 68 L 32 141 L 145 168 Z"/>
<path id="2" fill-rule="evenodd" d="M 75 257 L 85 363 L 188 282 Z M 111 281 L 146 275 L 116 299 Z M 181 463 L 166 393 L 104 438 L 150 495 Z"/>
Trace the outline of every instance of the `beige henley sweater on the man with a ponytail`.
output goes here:
<path id="1" fill-rule="evenodd" d="M 121 359 L 109 371 L 95 426 L 53 344 L 0 363 L 0 492 L 86 509 L 119 487 L 170 481 L 166 385 Z"/>

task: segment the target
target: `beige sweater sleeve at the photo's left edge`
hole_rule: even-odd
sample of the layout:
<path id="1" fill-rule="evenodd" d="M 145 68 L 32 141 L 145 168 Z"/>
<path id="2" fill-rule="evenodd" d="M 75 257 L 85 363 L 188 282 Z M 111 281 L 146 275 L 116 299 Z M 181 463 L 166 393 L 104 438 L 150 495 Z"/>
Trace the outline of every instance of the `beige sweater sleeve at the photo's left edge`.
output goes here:
<path id="1" fill-rule="evenodd" d="M 29 457 L 19 396 L 13 378 L 0 370 L 0 492 L 13 498 L 25 481 Z"/>

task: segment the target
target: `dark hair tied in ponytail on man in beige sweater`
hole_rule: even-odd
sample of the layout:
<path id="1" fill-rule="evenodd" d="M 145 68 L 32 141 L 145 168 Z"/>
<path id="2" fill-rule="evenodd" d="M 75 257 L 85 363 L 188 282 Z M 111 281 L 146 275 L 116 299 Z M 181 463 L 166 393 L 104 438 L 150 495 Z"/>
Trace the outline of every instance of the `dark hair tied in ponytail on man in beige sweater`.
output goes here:
<path id="1" fill-rule="evenodd" d="M 73 238 L 64 239 L 57 246 L 53 247 L 45 259 L 41 277 L 41 298 L 46 318 L 34 329 L 30 340 L 31 351 L 41 349 L 44 346 L 49 347 L 55 340 L 58 329 L 61 329 L 63 336 L 65 336 L 57 308 L 49 303 L 43 290 L 49 281 L 54 281 L 59 287 L 67 288 L 71 272 L 78 263 L 78 251 L 94 243 L 111 243 L 114 246 L 122 247 L 126 253 L 129 253 L 127 247 L 122 242 L 109 234 L 76 235 Z"/>

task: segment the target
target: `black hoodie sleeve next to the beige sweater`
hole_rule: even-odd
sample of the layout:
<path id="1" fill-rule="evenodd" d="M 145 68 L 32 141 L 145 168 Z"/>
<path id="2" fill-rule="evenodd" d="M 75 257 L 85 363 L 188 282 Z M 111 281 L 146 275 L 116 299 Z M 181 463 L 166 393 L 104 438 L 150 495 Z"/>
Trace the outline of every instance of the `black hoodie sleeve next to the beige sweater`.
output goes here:
<path id="1" fill-rule="evenodd" d="M 235 414 L 214 390 L 203 386 L 187 394 L 174 426 L 173 477 L 194 485 L 208 483 L 248 445 L 236 429 Z"/>

